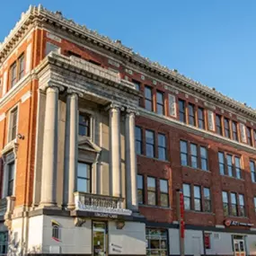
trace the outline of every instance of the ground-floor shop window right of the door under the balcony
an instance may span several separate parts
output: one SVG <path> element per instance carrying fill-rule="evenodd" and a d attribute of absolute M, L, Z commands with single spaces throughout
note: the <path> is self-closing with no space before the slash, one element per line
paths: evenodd
<path fill-rule="evenodd" d="M 167 230 L 146 228 L 146 255 L 168 255 Z"/>

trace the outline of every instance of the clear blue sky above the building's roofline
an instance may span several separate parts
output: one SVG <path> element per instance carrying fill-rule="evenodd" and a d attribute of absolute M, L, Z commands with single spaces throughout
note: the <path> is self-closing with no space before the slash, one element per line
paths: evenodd
<path fill-rule="evenodd" d="M 1 41 L 30 4 L 62 11 L 256 109 L 255 0 L 1 1 Z"/>

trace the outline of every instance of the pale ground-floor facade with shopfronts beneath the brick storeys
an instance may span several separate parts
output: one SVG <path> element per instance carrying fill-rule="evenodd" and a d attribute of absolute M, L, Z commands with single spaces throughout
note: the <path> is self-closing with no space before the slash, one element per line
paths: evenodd
<path fill-rule="evenodd" d="M 8 231 L 11 227 L 12 232 Z M 68 216 L 36 211 L 0 225 L 0 253 L 107 255 L 181 255 L 177 224 L 149 223 L 93 213 Z M 225 226 L 187 225 L 185 255 L 256 255 L 256 231 Z"/>

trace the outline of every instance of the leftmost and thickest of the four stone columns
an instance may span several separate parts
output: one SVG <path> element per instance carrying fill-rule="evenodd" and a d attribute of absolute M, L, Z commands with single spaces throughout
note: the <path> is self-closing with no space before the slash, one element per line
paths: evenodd
<path fill-rule="evenodd" d="M 40 207 L 57 205 L 58 90 L 56 86 L 46 89 Z"/>

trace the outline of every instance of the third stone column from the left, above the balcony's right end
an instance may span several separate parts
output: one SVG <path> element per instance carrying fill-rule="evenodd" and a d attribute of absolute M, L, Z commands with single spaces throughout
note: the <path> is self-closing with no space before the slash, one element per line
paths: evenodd
<path fill-rule="evenodd" d="M 110 181 L 111 195 L 121 197 L 120 180 L 120 109 L 110 105 Z"/>

